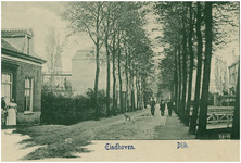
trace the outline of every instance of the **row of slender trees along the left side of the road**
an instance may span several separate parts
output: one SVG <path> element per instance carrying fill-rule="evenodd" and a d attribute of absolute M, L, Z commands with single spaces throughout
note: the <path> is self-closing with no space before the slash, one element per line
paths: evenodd
<path fill-rule="evenodd" d="M 96 118 L 99 118 L 97 92 L 101 61 L 106 63 L 107 116 L 116 115 L 117 82 L 120 113 L 126 109 L 134 111 L 142 108 L 142 103 L 147 103 L 147 95 L 150 92 L 147 79 L 153 71 L 153 51 L 143 29 L 145 23 L 143 3 L 96 1 L 64 2 L 63 4 L 62 17 L 68 22 L 73 34 L 87 33 L 96 47 Z M 110 95 L 111 77 L 113 80 L 112 98 Z M 126 101 L 124 101 L 124 90 Z"/>

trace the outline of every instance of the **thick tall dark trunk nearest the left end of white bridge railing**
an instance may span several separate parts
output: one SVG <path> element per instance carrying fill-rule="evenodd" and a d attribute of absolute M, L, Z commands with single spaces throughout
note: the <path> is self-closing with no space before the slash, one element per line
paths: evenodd
<path fill-rule="evenodd" d="M 212 60 L 212 2 L 205 2 L 205 60 L 203 72 L 203 87 L 200 102 L 199 129 L 196 134 L 198 139 L 204 139 L 206 134 L 206 115 L 208 106 L 208 90 L 210 90 L 210 73 Z"/>

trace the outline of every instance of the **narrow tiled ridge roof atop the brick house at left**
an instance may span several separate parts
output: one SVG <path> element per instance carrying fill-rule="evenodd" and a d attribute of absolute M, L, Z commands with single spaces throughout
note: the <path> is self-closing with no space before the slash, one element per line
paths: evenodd
<path fill-rule="evenodd" d="M 25 35 L 34 36 L 33 29 L 20 29 L 20 28 L 12 28 L 12 29 L 2 29 L 1 30 L 1 37 L 8 38 L 8 37 L 23 37 Z"/>

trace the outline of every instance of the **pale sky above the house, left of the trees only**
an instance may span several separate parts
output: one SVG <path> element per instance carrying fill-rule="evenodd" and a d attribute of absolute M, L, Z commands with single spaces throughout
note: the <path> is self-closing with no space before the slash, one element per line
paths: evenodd
<path fill-rule="evenodd" d="M 66 23 L 59 16 L 61 9 L 61 2 L 2 2 L 1 25 L 2 28 L 33 28 L 35 53 L 46 59 L 45 40 L 49 27 L 55 28 L 61 43 L 67 33 Z M 75 52 L 92 46 L 87 36 L 83 36 L 81 39 L 77 37 L 72 37 L 62 52 L 63 70 L 66 72 L 72 70 L 71 59 Z M 43 65 L 42 70 L 47 71 L 47 65 Z"/>

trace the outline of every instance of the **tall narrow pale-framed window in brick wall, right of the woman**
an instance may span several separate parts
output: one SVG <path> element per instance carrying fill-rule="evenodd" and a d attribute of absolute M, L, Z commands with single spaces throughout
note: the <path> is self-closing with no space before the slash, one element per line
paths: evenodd
<path fill-rule="evenodd" d="M 34 79 L 25 78 L 25 102 L 24 102 L 25 111 L 33 111 L 33 89 L 34 89 Z"/>

